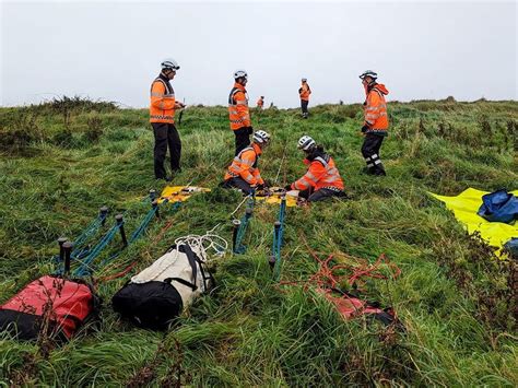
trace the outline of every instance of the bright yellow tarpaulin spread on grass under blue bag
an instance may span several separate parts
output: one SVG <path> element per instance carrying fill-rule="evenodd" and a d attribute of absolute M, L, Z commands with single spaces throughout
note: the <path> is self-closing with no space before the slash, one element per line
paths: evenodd
<path fill-rule="evenodd" d="M 518 190 L 510 191 L 518 197 Z M 457 197 L 439 196 L 431 192 L 438 200 L 446 203 L 446 208 L 451 210 L 455 217 L 459 220 L 468 230 L 469 234 L 480 232 L 480 236 L 492 247 L 501 248 L 496 251 L 502 256 L 502 247 L 511 237 L 518 237 L 518 222 L 514 225 L 502 222 L 490 222 L 476 214 L 482 204 L 482 196 L 488 191 L 481 191 L 473 188 L 466 189 Z"/>

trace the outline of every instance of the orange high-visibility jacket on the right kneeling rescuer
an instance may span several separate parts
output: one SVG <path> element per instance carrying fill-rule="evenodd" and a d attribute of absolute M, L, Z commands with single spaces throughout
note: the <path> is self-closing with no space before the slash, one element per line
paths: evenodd
<path fill-rule="evenodd" d="M 309 187 L 315 191 L 326 187 L 343 190 L 342 178 L 331 156 L 321 154 L 313 161 L 305 158 L 304 164 L 309 165 L 309 168 L 301 179 L 292 184 L 292 190 L 306 190 Z"/>

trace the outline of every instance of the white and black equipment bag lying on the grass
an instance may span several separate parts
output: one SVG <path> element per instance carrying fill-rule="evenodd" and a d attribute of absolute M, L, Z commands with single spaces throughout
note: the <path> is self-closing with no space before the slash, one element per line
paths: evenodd
<path fill-rule="evenodd" d="M 175 244 L 114 295 L 114 309 L 138 326 L 166 329 L 195 297 L 213 285 L 200 256 L 197 247 Z"/>

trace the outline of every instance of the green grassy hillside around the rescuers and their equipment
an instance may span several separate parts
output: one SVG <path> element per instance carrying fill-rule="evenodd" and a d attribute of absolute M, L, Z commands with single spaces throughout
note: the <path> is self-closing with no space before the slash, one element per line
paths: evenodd
<path fill-rule="evenodd" d="M 349 193 L 346 200 L 289 209 L 282 279 L 303 280 L 316 271 L 304 239 L 321 256 L 337 254 L 337 260 L 346 254 L 374 262 L 385 252 L 402 273 L 395 281 L 369 281 L 367 296 L 393 306 L 405 333 L 363 318 L 345 322 L 314 292 L 276 286 L 268 256 L 278 208 L 257 204 L 248 251 L 220 262 L 217 289 L 177 328 L 161 333 L 121 321 L 109 301 L 130 275 L 99 282 L 105 303 L 98 328 L 87 327 L 56 348 L 1 334 L 0 381 L 517 386 L 510 264 L 469 238 L 427 191 L 518 188 L 518 103 L 389 104 L 385 178 L 361 174 L 360 105 L 318 106 L 310 114 L 308 120 L 292 109 L 252 116 L 255 128 L 273 138 L 260 162 L 266 178 L 275 178 L 284 150 L 280 183 L 301 176 L 296 141 L 310 134 L 334 157 Z M 179 132 L 184 171 L 175 183 L 215 187 L 233 154 L 226 109 L 190 107 Z M 0 303 L 52 271 L 56 239 L 76 236 L 101 205 L 126 210 L 132 231 L 149 209 L 142 198 L 163 187 L 153 178 L 152 148 L 146 110 L 79 99 L 0 109 Z M 177 213 L 163 212 L 162 221 L 96 275 L 116 273 L 136 259 L 136 271 L 143 269 L 175 238 L 217 224 L 217 233 L 231 239 L 229 214 L 239 201 L 215 189 Z"/>

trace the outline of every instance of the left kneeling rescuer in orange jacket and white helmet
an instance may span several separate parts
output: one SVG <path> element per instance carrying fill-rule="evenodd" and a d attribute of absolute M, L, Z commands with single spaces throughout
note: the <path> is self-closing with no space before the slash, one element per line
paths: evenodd
<path fill-rule="evenodd" d="M 225 188 L 236 187 L 249 195 L 256 188 L 262 190 L 264 180 L 259 172 L 258 163 L 262 150 L 270 143 L 270 134 L 259 130 L 254 133 L 252 143 L 239 151 L 225 174 L 224 181 L 220 185 Z"/>

